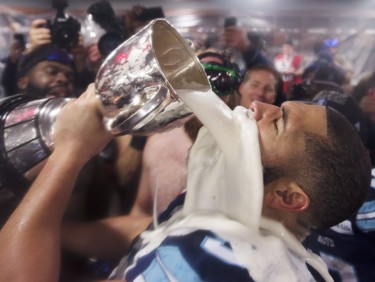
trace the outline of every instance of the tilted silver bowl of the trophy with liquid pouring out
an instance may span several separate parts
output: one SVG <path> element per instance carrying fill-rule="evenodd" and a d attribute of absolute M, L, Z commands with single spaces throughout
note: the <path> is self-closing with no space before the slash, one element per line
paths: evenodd
<path fill-rule="evenodd" d="M 176 91 L 210 89 L 194 51 L 164 19 L 114 50 L 95 85 L 104 123 L 114 135 L 147 135 L 181 125 L 192 113 Z"/>

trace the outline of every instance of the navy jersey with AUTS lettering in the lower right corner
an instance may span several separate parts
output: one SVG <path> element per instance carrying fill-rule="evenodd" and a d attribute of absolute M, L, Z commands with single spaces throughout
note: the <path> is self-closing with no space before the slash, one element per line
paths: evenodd
<path fill-rule="evenodd" d="M 336 282 L 375 281 L 375 169 L 360 209 L 339 225 L 312 234 L 304 244 L 321 256 Z"/>

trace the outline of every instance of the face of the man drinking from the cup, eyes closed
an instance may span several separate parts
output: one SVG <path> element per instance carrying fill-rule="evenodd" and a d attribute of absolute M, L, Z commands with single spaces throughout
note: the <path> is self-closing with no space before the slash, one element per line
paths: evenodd
<path fill-rule="evenodd" d="M 285 102 L 281 107 L 254 102 L 264 166 L 281 164 L 305 148 L 305 133 L 327 136 L 326 110 L 319 105 Z"/>

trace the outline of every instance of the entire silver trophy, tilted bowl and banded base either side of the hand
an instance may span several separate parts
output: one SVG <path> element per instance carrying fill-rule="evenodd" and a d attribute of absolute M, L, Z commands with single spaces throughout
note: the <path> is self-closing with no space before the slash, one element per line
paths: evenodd
<path fill-rule="evenodd" d="M 194 51 L 164 19 L 156 19 L 117 47 L 95 80 L 98 109 L 113 135 L 148 135 L 192 117 L 176 90 L 210 89 Z M 0 100 L 0 195 L 22 195 L 53 150 L 53 127 L 68 99 Z M 13 187 L 22 187 L 14 189 Z M 2 189 L 1 189 L 2 188 Z"/>

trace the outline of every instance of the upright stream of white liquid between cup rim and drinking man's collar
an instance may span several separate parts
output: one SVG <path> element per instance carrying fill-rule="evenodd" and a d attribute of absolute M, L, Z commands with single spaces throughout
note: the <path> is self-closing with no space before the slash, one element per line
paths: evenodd
<path fill-rule="evenodd" d="M 230 110 L 213 92 L 178 95 L 205 125 L 189 154 L 184 214 L 221 212 L 258 230 L 263 174 L 252 112 Z"/>

